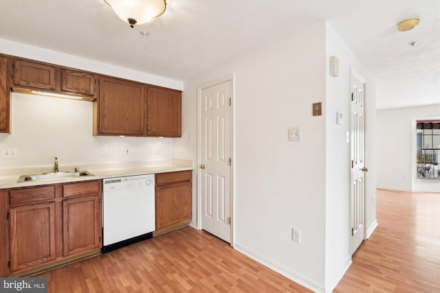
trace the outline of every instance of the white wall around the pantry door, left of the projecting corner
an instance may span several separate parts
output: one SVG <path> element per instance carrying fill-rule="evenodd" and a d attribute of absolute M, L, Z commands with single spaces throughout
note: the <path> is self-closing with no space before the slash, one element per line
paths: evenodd
<path fill-rule="evenodd" d="M 288 39 L 186 81 L 177 156 L 197 161 L 197 142 L 187 139 L 197 133 L 197 86 L 232 74 L 234 248 L 322 292 L 325 116 L 312 117 L 311 104 L 325 102 L 325 23 L 302 27 Z M 295 126 L 302 141 L 289 142 L 287 128 Z M 193 215 L 196 211 L 194 204 Z M 301 244 L 292 242 L 292 227 L 302 231 Z"/>

